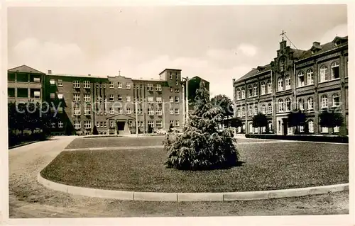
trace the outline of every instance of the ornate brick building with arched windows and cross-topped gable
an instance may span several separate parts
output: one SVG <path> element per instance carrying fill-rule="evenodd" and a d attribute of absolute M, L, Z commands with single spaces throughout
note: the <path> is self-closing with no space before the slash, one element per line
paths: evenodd
<path fill-rule="evenodd" d="M 347 133 L 348 120 L 348 38 L 335 37 L 321 45 L 314 42 L 310 50 L 296 50 L 280 42 L 277 56 L 270 64 L 258 66 L 240 79 L 233 79 L 235 116 L 242 120 L 239 132 L 257 133 L 253 115 L 261 112 L 268 118 L 268 130 L 279 135 L 293 134 L 288 114 L 305 113 L 300 132 L 328 133 L 319 125 L 324 109 L 342 113 L 344 122 L 334 133 Z M 266 128 L 263 128 L 263 132 Z"/>

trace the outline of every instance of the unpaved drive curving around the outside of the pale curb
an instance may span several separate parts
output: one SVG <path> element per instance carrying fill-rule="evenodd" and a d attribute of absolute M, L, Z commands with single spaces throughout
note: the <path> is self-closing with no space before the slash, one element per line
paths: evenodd
<path fill-rule="evenodd" d="M 44 188 L 38 171 L 52 161 L 75 137 L 9 150 L 10 217 L 143 217 L 347 214 L 349 193 L 235 202 L 156 203 L 72 196 Z"/>

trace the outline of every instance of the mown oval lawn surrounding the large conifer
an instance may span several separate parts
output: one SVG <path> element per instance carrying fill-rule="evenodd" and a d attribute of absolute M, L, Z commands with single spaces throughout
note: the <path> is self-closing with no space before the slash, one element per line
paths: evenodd
<path fill-rule="evenodd" d="M 146 146 L 144 142 L 131 146 L 137 145 Z M 68 147 L 75 147 L 75 142 Z M 166 153 L 162 148 L 127 147 L 127 150 L 64 151 L 41 174 L 72 186 L 159 192 L 265 191 L 349 182 L 348 145 L 280 142 L 251 143 L 238 148 L 244 163 L 232 169 L 167 169 L 163 165 Z"/>

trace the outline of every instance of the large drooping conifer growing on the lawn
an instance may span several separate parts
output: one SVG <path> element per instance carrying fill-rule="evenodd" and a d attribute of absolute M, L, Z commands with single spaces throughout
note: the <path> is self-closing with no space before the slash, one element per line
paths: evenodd
<path fill-rule="evenodd" d="M 196 91 L 195 108 L 187 120 L 182 134 L 164 142 L 168 152 L 165 165 L 183 170 L 226 169 L 235 166 L 239 159 L 236 141 L 231 128 L 219 132 L 219 119 L 223 110 L 213 106 L 209 94 L 200 84 Z"/>

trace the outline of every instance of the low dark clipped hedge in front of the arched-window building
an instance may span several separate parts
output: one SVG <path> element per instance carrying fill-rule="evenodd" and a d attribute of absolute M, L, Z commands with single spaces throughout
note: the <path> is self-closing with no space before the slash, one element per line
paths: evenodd
<path fill-rule="evenodd" d="M 349 143 L 347 136 L 326 136 L 326 135 L 266 135 L 266 134 L 246 134 L 246 138 L 256 139 L 273 139 L 273 140 L 300 140 L 313 142 L 333 142 L 333 143 Z"/>

